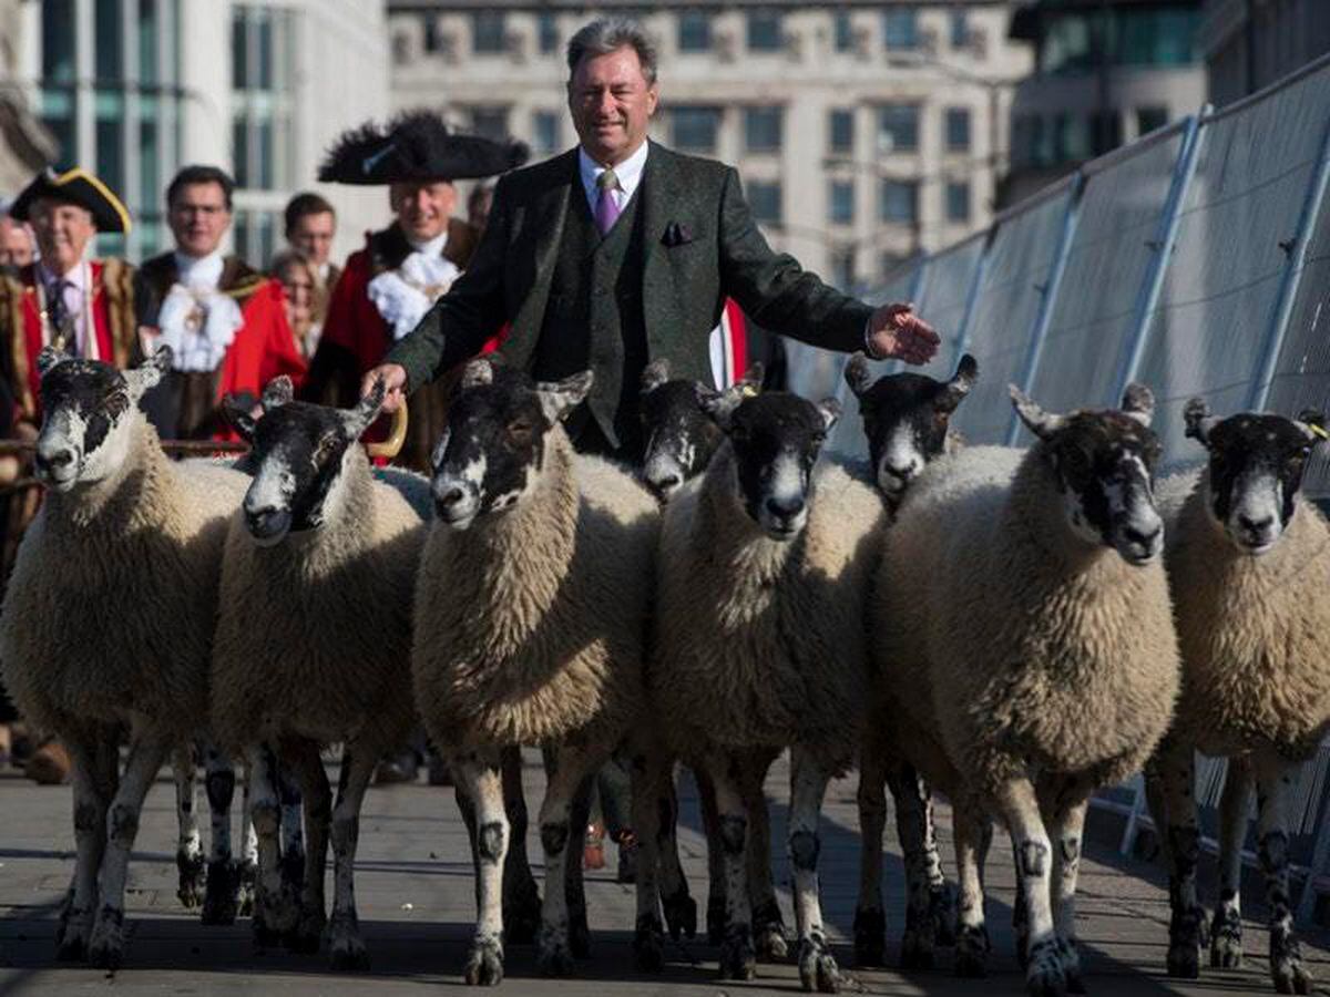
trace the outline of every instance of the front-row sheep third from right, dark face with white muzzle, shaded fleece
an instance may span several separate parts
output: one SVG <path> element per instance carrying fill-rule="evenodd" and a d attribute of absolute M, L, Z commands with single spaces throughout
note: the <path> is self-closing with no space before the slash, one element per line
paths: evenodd
<path fill-rule="evenodd" d="M 665 506 L 653 711 L 676 755 L 716 786 L 726 873 L 722 978 L 751 978 L 745 754 L 791 750 L 789 849 L 799 978 L 839 989 L 818 900 L 818 815 L 855 754 L 867 693 L 864 592 L 886 518 L 843 467 L 813 473 L 834 399 L 742 387 L 704 397 L 726 433 L 706 472 Z"/>

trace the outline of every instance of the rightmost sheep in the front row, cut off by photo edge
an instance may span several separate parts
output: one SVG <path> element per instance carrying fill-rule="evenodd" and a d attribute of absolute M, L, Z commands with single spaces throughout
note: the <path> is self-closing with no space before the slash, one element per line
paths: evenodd
<path fill-rule="evenodd" d="M 1297 767 L 1330 726 L 1330 525 L 1298 500 L 1325 416 L 1246 412 L 1217 419 L 1204 399 L 1185 409 L 1186 435 L 1209 468 L 1161 485 L 1165 561 L 1182 655 L 1173 728 L 1148 768 L 1169 860 L 1168 972 L 1200 974 L 1200 832 L 1194 751 L 1230 759 L 1220 807 L 1220 903 L 1210 962 L 1242 964 L 1241 849 L 1253 783 L 1258 856 L 1270 907 L 1270 976 L 1279 993 L 1310 993 L 1289 903 L 1289 794 Z M 1156 804 L 1157 807 L 1157 804 Z"/>

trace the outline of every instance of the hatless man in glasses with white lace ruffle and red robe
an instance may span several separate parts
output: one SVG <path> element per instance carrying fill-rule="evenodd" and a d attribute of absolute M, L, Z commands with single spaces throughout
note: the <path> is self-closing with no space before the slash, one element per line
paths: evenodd
<path fill-rule="evenodd" d="M 305 376 L 281 284 L 221 253 L 234 186 L 215 166 L 177 173 L 166 189 L 176 250 L 149 259 L 138 275 L 142 324 L 154 347 L 172 348 L 173 370 L 144 397 L 168 439 L 234 439 L 223 395 L 257 403 L 273 378 Z"/>

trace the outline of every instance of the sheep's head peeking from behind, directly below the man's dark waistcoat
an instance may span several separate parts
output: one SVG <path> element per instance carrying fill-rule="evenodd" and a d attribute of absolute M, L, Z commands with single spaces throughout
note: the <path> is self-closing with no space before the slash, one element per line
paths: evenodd
<path fill-rule="evenodd" d="M 750 367 L 739 383 L 759 391 L 762 364 Z M 670 380 L 668 360 L 654 360 L 642 371 L 642 481 L 662 502 L 700 473 L 721 445 L 722 433 L 701 403 L 702 396 L 714 393 L 709 386 L 685 378 Z"/>

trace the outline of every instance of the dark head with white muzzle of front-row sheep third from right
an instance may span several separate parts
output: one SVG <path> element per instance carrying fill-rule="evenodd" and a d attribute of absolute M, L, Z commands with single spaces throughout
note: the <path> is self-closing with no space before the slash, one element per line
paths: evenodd
<path fill-rule="evenodd" d="M 809 489 L 827 431 L 841 403 L 817 404 L 773 391 L 753 395 L 735 384 L 702 396 L 702 408 L 734 448 L 735 497 L 773 540 L 793 540 L 809 520 Z"/>

